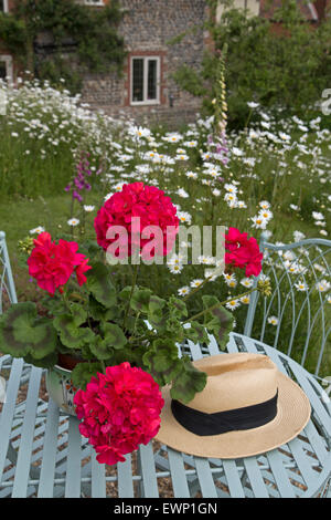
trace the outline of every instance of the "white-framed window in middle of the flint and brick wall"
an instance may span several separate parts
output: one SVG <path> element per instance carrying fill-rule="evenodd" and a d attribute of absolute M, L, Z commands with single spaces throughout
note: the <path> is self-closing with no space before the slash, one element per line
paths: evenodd
<path fill-rule="evenodd" d="M 131 104 L 160 102 L 160 58 L 131 58 Z"/>

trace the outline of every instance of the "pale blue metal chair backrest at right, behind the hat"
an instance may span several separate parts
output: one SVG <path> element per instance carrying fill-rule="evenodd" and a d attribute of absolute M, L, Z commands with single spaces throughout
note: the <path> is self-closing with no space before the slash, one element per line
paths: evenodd
<path fill-rule="evenodd" d="M 273 293 L 250 298 L 244 333 L 290 355 L 316 376 L 331 375 L 331 241 L 269 243 L 263 272 Z M 255 281 L 255 284 L 257 281 Z"/>

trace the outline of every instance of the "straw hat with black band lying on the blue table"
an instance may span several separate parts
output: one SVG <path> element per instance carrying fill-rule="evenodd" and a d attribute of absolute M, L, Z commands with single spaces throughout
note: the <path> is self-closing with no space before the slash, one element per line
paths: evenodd
<path fill-rule="evenodd" d="M 241 458 L 277 448 L 296 437 L 310 418 L 302 389 L 264 354 L 204 357 L 193 365 L 207 374 L 205 388 L 189 403 L 164 406 L 157 439 L 200 457 Z"/>

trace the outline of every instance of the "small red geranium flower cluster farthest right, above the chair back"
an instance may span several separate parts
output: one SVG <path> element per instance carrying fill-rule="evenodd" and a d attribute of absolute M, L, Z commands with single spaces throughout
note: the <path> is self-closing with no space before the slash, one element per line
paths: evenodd
<path fill-rule="evenodd" d="M 236 228 L 229 228 L 225 235 L 225 264 L 245 269 L 246 277 L 257 277 L 261 271 L 263 253 L 255 238 L 247 239 Z"/>

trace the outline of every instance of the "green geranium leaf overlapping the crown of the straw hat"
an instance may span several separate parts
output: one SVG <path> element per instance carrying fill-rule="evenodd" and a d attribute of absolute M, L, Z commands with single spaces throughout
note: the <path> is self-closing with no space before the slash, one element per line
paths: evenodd
<path fill-rule="evenodd" d="M 189 403 L 206 385 L 206 374 L 196 370 L 189 356 L 180 360 L 180 371 L 172 381 L 170 395 L 173 399 Z"/>

